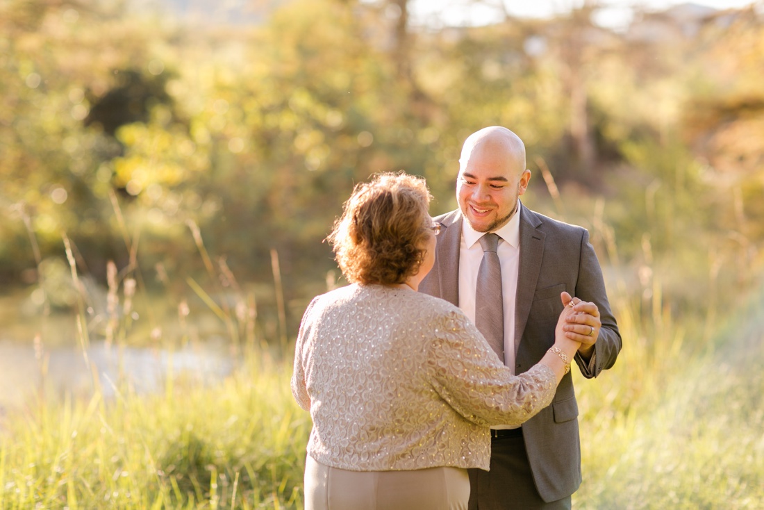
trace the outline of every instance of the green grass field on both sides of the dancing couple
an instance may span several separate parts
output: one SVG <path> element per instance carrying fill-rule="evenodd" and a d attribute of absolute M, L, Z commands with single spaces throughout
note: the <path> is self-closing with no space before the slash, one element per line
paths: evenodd
<path fill-rule="evenodd" d="M 577 376 L 575 508 L 764 508 L 764 320 L 749 302 L 705 342 L 668 312 L 636 320 L 616 304 L 617 365 Z M 290 352 L 241 356 L 221 382 L 168 369 L 154 395 L 117 382 L 114 398 L 94 385 L 5 414 L 0 508 L 302 508 L 310 421 Z"/>

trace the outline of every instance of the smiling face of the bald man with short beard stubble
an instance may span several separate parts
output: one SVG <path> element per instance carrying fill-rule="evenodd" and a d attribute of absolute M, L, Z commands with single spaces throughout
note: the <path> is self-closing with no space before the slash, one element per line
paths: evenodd
<path fill-rule="evenodd" d="M 456 198 L 461 214 L 477 232 L 493 232 L 515 213 L 530 171 L 505 151 L 475 148 L 461 161 Z"/>

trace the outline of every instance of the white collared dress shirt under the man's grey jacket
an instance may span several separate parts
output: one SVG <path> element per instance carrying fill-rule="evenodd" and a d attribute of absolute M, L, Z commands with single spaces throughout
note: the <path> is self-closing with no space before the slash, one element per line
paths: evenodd
<path fill-rule="evenodd" d="M 478 287 L 478 268 L 483 260 L 480 238 L 486 232 L 476 232 L 466 219 L 461 220 L 461 246 L 459 249 L 459 308 L 471 321 L 475 320 L 475 293 Z M 500 229 L 499 263 L 501 265 L 501 293 L 504 310 L 504 365 L 515 373 L 515 298 L 517 273 L 520 267 L 520 203 L 517 213 Z"/>

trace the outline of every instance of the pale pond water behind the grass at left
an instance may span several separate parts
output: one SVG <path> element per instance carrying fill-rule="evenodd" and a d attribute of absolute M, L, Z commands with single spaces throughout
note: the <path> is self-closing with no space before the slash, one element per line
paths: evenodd
<path fill-rule="evenodd" d="M 102 336 L 92 334 L 83 349 L 73 313 L 43 316 L 29 310 L 29 301 L 28 293 L 0 296 L 0 411 L 23 407 L 40 391 L 46 398 L 87 397 L 94 381 L 107 397 L 124 382 L 137 392 L 160 391 L 168 374 L 191 382 L 216 381 L 237 362 L 230 343 L 211 333 L 219 324 L 207 327 L 208 317 L 202 314 L 189 327 L 202 333 L 183 346 L 107 346 Z"/>

